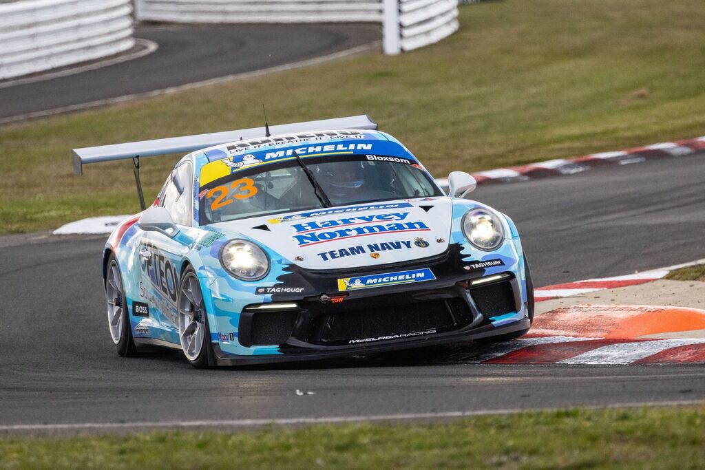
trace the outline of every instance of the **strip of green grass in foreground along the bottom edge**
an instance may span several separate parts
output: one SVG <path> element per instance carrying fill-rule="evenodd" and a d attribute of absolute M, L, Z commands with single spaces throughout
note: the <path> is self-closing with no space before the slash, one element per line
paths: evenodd
<path fill-rule="evenodd" d="M 436 424 L 0 440 L 3 469 L 696 469 L 705 407 L 571 410 Z"/>

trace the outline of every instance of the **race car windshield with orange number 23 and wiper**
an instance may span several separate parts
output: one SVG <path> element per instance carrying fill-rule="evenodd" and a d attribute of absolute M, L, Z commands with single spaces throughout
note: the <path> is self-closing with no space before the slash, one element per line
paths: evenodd
<path fill-rule="evenodd" d="M 200 224 L 360 202 L 442 196 L 423 168 L 407 159 L 345 155 L 295 159 L 235 171 L 201 187 Z"/>

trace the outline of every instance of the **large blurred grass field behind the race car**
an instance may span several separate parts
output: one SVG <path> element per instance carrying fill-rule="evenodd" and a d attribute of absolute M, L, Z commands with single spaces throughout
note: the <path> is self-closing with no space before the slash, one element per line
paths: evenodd
<path fill-rule="evenodd" d="M 460 31 L 348 58 L 0 128 L 0 233 L 135 211 L 130 163 L 97 144 L 369 113 L 436 175 L 705 134 L 705 2 L 532 0 L 460 8 Z M 10 89 L 4 92 L 11 92 Z M 176 156 L 143 163 L 154 195 Z"/>

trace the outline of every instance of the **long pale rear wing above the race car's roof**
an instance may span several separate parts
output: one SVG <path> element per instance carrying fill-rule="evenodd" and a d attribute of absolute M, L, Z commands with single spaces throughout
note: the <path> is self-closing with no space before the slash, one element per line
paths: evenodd
<path fill-rule="evenodd" d="M 360 116 L 350 116 L 348 118 L 309 120 L 304 123 L 269 126 L 271 135 L 346 129 L 376 130 L 377 123 L 369 116 L 363 114 Z M 235 142 L 240 139 L 247 140 L 256 137 L 265 137 L 266 133 L 268 133 L 267 129 L 262 127 L 73 149 L 73 172 L 77 175 L 82 175 L 83 166 L 87 163 L 128 160 L 143 156 L 188 154 L 195 150 Z"/>

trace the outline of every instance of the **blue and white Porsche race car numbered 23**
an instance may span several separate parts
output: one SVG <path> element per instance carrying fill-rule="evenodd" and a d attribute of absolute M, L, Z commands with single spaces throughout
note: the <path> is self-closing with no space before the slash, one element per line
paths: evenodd
<path fill-rule="evenodd" d="M 513 221 L 446 194 L 369 116 L 75 149 L 75 171 L 132 159 L 142 211 L 103 253 L 118 354 L 197 368 L 359 356 L 529 330 Z M 140 158 L 189 152 L 145 209 Z"/>

